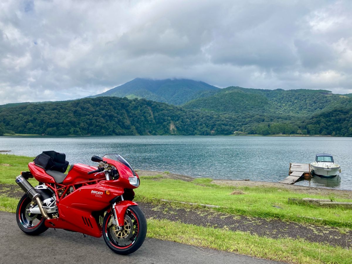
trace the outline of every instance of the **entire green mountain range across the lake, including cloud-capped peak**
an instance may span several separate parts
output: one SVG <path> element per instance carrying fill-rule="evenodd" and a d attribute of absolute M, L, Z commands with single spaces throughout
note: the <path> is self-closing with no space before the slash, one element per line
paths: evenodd
<path fill-rule="evenodd" d="M 115 97 L 115 92 L 183 105 Z M 219 89 L 184 79 L 134 79 L 102 95 L 109 96 L 0 106 L 0 135 L 352 136 L 352 98 L 328 90 Z"/>

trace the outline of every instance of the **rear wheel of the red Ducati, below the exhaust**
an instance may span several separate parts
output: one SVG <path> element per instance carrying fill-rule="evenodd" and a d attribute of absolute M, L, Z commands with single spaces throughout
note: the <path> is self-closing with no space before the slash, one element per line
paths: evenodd
<path fill-rule="evenodd" d="M 16 221 L 17 225 L 28 235 L 39 235 L 46 231 L 44 218 L 41 214 L 26 213 L 26 209 L 31 205 L 36 205 L 26 194 L 22 196 L 17 205 Z"/>

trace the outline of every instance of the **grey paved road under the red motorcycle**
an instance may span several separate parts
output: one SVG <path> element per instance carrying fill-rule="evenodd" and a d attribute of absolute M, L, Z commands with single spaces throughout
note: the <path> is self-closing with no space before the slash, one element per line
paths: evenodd
<path fill-rule="evenodd" d="M 248 256 L 200 249 L 170 241 L 147 238 L 133 254 L 121 256 L 102 238 L 49 228 L 32 237 L 17 226 L 15 214 L 0 212 L 0 263 L 276 263 Z"/>

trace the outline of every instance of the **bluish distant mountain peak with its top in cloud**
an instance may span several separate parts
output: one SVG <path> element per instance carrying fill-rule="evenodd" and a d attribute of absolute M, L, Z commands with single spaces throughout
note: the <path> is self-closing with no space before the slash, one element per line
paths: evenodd
<path fill-rule="evenodd" d="M 202 93 L 204 92 L 211 93 L 216 90 L 219 90 L 219 88 L 205 82 L 187 79 L 151 80 L 136 78 L 105 93 L 89 96 L 89 98 L 99 96 L 117 96 L 129 99 L 145 98 L 172 105 L 182 105 L 189 100 L 203 96 Z"/>

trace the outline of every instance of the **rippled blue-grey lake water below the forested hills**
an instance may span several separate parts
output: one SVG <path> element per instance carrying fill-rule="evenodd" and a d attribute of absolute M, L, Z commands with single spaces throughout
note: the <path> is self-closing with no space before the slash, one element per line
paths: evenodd
<path fill-rule="evenodd" d="M 352 189 L 352 138 L 332 137 L 0 137 L 0 150 L 36 156 L 43 150 L 66 154 L 70 163 L 92 155 L 120 153 L 135 169 L 170 171 L 193 177 L 278 182 L 289 163 L 310 163 L 330 153 L 342 172 L 296 184 Z"/>

